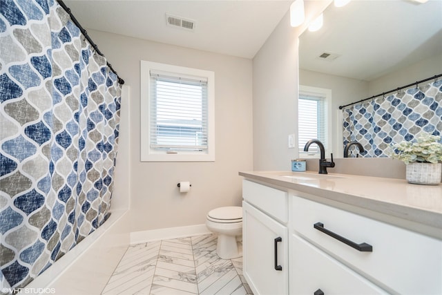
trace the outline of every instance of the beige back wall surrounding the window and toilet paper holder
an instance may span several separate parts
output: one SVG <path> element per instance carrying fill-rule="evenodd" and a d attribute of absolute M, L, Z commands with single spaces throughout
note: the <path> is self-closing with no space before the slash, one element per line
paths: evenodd
<path fill-rule="evenodd" d="M 129 149 L 118 155 L 130 159 L 129 231 L 199 225 L 215 207 L 240 205 L 238 171 L 253 169 L 251 59 L 93 30 L 88 34 L 130 86 Z M 215 162 L 140 162 L 140 60 L 215 72 Z M 180 181 L 191 182 L 189 193 L 179 193 Z"/>

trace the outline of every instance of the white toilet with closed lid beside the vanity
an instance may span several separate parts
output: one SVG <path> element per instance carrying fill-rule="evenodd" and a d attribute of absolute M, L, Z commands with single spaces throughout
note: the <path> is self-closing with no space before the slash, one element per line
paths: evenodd
<path fill-rule="evenodd" d="M 222 259 L 242 256 L 236 236 L 242 234 L 242 207 L 220 207 L 207 213 L 206 227 L 218 234 L 216 254 Z"/>

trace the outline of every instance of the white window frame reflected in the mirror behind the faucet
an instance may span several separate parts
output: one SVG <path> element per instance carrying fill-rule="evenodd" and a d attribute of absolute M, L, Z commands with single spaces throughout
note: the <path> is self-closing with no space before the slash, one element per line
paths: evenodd
<path fill-rule="evenodd" d="M 323 142 L 325 146 L 325 154 L 332 153 L 333 150 L 333 139 L 332 139 L 332 90 L 327 88 L 319 88 L 314 86 L 299 86 L 298 91 L 298 102 L 302 95 L 307 96 L 317 96 L 324 97 L 324 111 L 325 117 L 323 118 L 323 122 L 325 122 L 325 140 Z M 298 103 L 297 102 L 297 103 Z M 299 107 L 298 107 L 299 112 Z M 299 116 L 299 115 L 298 115 Z M 313 139 L 313 138 L 311 138 Z M 308 151 L 305 152 L 303 149 L 299 149 L 299 124 L 298 124 L 298 154 L 300 158 L 319 158 L 319 151 Z"/>

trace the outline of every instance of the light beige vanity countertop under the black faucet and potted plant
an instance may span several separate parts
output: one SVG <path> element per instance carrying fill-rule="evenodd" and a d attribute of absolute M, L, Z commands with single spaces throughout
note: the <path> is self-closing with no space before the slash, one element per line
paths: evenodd
<path fill-rule="evenodd" d="M 320 175 L 313 171 L 250 171 L 239 175 L 419 222 L 442 233 L 442 184 L 410 184 L 407 180 L 337 173 Z"/>

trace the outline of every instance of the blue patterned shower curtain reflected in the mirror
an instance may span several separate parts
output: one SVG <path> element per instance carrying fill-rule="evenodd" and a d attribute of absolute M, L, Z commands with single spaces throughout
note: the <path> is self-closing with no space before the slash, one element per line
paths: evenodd
<path fill-rule="evenodd" d="M 357 141 L 367 158 L 388 157 L 390 145 L 419 133 L 441 135 L 442 81 L 343 109 L 343 140 Z"/>

